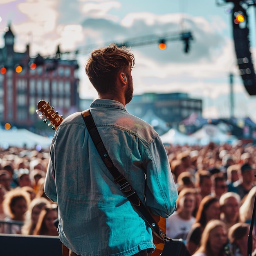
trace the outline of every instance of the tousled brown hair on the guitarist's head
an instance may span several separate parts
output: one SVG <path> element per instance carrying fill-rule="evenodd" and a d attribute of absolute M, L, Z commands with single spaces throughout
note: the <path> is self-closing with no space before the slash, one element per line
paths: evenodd
<path fill-rule="evenodd" d="M 117 74 L 127 73 L 135 64 L 135 58 L 127 47 L 110 44 L 94 50 L 85 65 L 85 72 L 99 94 L 115 89 Z"/>

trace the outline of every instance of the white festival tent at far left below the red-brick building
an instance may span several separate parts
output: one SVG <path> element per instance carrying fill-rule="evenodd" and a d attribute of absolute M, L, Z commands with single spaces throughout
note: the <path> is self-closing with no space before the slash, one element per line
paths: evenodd
<path fill-rule="evenodd" d="M 49 148 L 52 138 L 44 137 L 26 129 L 11 128 L 5 130 L 0 128 L 0 147 L 8 148 L 9 146 L 23 148 Z"/>

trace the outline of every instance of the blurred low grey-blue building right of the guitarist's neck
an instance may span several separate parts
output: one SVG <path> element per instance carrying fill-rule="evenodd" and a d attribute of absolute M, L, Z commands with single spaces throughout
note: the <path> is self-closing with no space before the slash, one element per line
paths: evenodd
<path fill-rule="evenodd" d="M 144 119 L 147 112 L 153 112 L 166 122 L 166 126 L 178 124 L 192 113 L 202 116 L 202 100 L 191 99 L 186 93 L 134 95 L 126 107 L 132 115 L 141 119 Z"/>

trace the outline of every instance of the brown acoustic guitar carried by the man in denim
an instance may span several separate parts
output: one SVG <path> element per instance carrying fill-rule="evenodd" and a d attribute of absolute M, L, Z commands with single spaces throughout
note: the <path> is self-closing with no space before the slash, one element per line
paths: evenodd
<path fill-rule="evenodd" d="M 46 102 L 45 100 L 40 100 L 37 104 L 38 109 L 36 110 L 36 113 L 39 115 L 43 121 L 48 124 L 48 126 L 52 126 L 53 130 L 57 130 L 58 126 L 63 121 L 63 116 L 59 115 L 58 112 L 54 110 L 54 107 L 50 105 L 49 102 Z M 41 113 L 41 114 L 40 114 Z M 152 214 L 152 217 L 154 218 L 155 222 L 159 226 L 160 229 L 165 233 L 166 232 L 166 218 L 157 216 Z M 164 240 L 160 239 L 155 235 L 153 232 L 153 243 L 156 247 L 155 251 L 152 256 L 159 256 L 162 253 L 162 250 L 164 249 Z M 69 250 L 65 245 L 62 247 L 62 253 L 63 256 L 69 256 Z"/>

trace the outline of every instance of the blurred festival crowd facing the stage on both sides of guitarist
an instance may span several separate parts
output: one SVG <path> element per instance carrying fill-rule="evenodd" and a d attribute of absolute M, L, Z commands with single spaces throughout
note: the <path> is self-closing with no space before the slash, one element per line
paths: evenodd
<path fill-rule="evenodd" d="M 252 144 L 165 145 L 179 197 L 166 235 L 194 256 L 247 256 L 256 194 Z M 49 150 L 0 150 L 0 233 L 57 236 L 57 205 L 43 186 Z M 256 249 L 256 220 L 252 249 Z"/>

